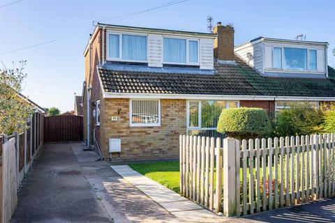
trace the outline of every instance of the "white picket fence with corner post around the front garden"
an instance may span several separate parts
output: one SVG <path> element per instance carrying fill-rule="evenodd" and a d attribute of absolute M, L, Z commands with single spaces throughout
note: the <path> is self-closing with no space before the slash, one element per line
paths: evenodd
<path fill-rule="evenodd" d="M 181 194 L 216 213 L 248 215 L 335 196 L 334 134 L 226 138 L 222 148 L 219 138 L 179 140 Z"/>

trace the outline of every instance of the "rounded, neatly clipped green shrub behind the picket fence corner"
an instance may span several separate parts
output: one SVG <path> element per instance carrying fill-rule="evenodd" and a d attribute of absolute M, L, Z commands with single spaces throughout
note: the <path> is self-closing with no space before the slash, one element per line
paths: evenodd
<path fill-rule="evenodd" d="M 269 116 L 260 108 L 223 109 L 218 119 L 217 131 L 235 139 L 252 139 L 271 130 Z"/>

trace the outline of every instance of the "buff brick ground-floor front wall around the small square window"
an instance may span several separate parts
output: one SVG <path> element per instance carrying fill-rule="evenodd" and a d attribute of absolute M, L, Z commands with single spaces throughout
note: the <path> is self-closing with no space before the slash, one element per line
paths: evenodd
<path fill-rule="evenodd" d="M 117 121 L 111 116 L 117 116 Z M 130 127 L 129 99 L 101 100 L 101 149 L 105 157 L 109 157 L 110 138 L 121 138 L 121 155 L 113 154 L 113 160 L 178 157 L 179 134 L 186 134 L 186 100 L 162 99 L 159 127 Z"/>

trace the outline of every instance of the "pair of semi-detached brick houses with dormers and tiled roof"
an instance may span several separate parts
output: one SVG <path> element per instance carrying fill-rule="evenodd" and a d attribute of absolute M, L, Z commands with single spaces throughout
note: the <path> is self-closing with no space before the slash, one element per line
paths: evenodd
<path fill-rule="evenodd" d="M 179 134 L 221 136 L 229 107 L 335 101 L 328 43 L 97 24 L 84 50 L 84 139 L 113 160 L 178 157 Z M 111 140 L 112 139 L 112 140 Z M 119 141 L 117 141 L 119 139 Z"/>

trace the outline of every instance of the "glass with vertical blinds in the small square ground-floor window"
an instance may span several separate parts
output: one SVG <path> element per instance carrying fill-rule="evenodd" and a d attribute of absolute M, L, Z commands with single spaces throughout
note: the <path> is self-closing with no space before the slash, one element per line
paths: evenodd
<path fill-rule="evenodd" d="M 158 100 L 133 100 L 132 123 L 159 123 Z"/>

